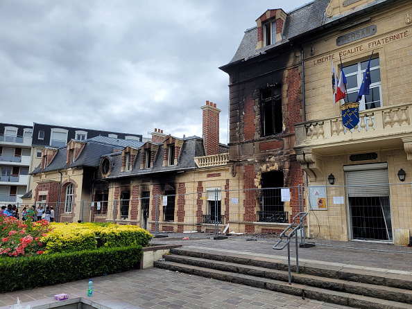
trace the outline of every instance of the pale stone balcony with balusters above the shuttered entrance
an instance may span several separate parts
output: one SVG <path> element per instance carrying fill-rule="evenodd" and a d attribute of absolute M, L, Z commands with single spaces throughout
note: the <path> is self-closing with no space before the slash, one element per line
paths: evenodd
<path fill-rule="evenodd" d="M 318 154 L 336 154 L 381 148 L 381 145 L 403 148 L 404 141 L 412 137 L 411 118 L 412 103 L 401 103 L 359 112 L 359 124 L 352 130 L 343 127 L 341 115 L 298 123 L 295 150 L 299 156 L 312 150 Z"/>

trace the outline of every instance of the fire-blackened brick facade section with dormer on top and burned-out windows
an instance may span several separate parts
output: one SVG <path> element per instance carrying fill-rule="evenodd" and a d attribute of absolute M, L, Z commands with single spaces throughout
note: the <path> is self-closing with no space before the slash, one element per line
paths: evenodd
<path fill-rule="evenodd" d="M 293 13 L 267 10 L 246 30 L 229 74 L 230 163 L 246 191 L 246 232 L 280 231 L 299 211 L 296 188 L 303 172 L 293 150 L 295 123 L 304 120 L 301 49 L 289 44 Z M 281 188 L 291 188 L 282 201 Z M 268 189 L 271 188 L 271 189 Z M 268 226 L 267 223 L 271 222 Z"/>

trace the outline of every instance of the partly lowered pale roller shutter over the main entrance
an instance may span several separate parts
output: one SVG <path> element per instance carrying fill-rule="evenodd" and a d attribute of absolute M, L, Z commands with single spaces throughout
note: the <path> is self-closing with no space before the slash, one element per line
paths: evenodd
<path fill-rule="evenodd" d="M 389 196 L 388 183 L 386 168 L 346 171 L 349 197 Z"/>

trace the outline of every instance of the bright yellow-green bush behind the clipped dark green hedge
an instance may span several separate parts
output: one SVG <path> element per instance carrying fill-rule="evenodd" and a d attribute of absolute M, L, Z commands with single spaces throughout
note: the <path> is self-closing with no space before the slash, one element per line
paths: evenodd
<path fill-rule="evenodd" d="M 97 239 L 105 247 L 146 247 L 152 239 L 151 233 L 135 225 L 53 222 L 51 227 L 53 232 L 42 238 L 45 253 L 96 249 Z"/>

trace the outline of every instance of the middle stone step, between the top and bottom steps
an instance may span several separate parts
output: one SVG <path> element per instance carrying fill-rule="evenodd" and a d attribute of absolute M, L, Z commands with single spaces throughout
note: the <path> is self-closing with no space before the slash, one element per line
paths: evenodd
<path fill-rule="evenodd" d="M 179 256 L 174 254 L 165 255 L 163 257 L 166 261 L 175 263 L 205 267 L 208 269 L 221 270 L 224 272 L 247 274 L 250 276 L 274 279 L 277 281 L 289 281 L 287 270 L 275 270 L 265 267 L 242 265 L 225 261 L 213 261 L 205 258 L 194 258 L 191 256 Z M 359 294 L 390 301 L 412 304 L 411 290 L 392 288 L 384 285 L 359 283 L 354 281 L 345 281 L 342 279 L 332 279 L 323 276 L 295 273 L 291 273 L 291 282 L 327 290 L 334 290 L 337 292 L 347 292 L 350 294 Z"/>

